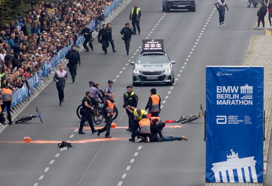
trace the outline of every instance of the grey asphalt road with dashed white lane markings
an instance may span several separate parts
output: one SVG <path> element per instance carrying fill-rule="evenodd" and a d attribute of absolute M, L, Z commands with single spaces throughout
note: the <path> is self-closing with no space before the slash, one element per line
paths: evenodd
<path fill-rule="evenodd" d="M 251 35 L 263 34 L 253 30 L 256 8 L 246 8 L 246 2 L 229 0 L 225 27 L 219 27 L 214 1 L 196 2 L 196 12 L 161 11 L 161 2 L 139 1 L 142 11 L 141 35 L 133 35 L 130 55 L 121 41 L 121 29 L 133 6 L 130 3 L 111 22 L 116 53 L 111 47 L 104 55 L 101 45 L 94 41 L 94 52 L 81 53 L 81 65 L 75 83 L 66 82 L 65 102 L 58 105 L 55 82 L 50 83 L 21 113 L 28 116 L 38 106 L 44 123 L 35 119 L 27 124 L 9 126 L 0 135 L 0 185 L 185 185 L 205 184 L 204 118 L 189 124 L 170 124 L 163 134 L 188 137 L 189 141 L 134 143 L 125 130 L 128 118 L 123 105 L 126 86 L 132 84 L 130 61 L 141 52 L 141 40 L 164 39 L 170 60 L 175 60 L 175 85 L 143 85 L 133 87 L 139 97 L 138 107 L 144 109 L 150 89 L 155 87 L 162 98 L 162 119 L 178 119 L 192 115 L 205 107 L 205 66 L 242 65 Z M 150 35 L 148 35 L 150 34 Z M 136 53 L 134 55 L 134 53 Z M 68 72 L 68 69 L 65 69 Z M 70 75 L 70 74 L 69 74 Z M 119 77 L 117 77 L 119 75 Z M 117 127 L 111 130 L 112 139 L 76 131 L 79 119 L 76 108 L 88 90 L 89 80 L 107 86 L 115 80 Z M 168 97 L 167 97 L 168 96 Z M 166 98 L 167 97 L 167 98 Z M 103 127 L 104 123 L 95 127 Z M 23 142 L 30 136 L 31 143 Z M 60 151 L 57 143 L 72 142 L 74 148 Z"/>

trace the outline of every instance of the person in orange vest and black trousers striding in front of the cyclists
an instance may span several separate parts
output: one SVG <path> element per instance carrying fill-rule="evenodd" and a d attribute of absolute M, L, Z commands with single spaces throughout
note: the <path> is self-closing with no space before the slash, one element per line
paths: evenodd
<path fill-rule="evenodd" d="M 102 107 L 102 110 L 104 112 L 104 117 L 105 117 L 105 123 L 106 125 L 102 129 L 97 130 L 97 135 L 99 136 L 101 132 L 106 131 L 105 138 L 111 138 L 110 136 L 110 130 L 112 126 L 112 116 L 113 114 L 116 114 L 116 110 L 114 108 L 114 94 L 111 94 L 108 97 L 108 100 L 104 102 L 104 105 Z"/>

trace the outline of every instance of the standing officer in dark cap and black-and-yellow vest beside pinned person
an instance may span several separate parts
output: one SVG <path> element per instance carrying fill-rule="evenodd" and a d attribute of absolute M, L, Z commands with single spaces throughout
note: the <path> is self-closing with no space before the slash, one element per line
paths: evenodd
<path fill-rule="evenodd" d="M 134 92 L 132 92 L 132 86 L 127 86 L 127 92 L 124 93 L 123 98 L 124 98 L 124 105 L 123 105 L 124 108 L 126 108 L 126 106 L 134 107 L 134 108 L 137 107 L 138 96 Z M 128 114 L 128 129 L 126 130 L 131 132 L 133 122 L 134 122 L 134 116 L 127 109 L 126 109 L 126 112 Z"/>

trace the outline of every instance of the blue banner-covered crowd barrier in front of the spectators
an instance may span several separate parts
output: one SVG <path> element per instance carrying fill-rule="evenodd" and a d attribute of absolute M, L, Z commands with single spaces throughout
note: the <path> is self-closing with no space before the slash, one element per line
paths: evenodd
<path fill-rule="evenodd" d="M 105 17 L 107 17 L 116 6 L 118 6 L 122 0 L 114 0 L 111 5 L 107 6 L 104 12 Z M 90 24 L 88 24 L 88 28 L 91 30 L 95 30 L 96 28 L 96 20 L 93 19 Z M 78 33 L 79 34 L 79 33 Z M 79 36 L 76 41 L 76 46 L 81 44 L 81 42 L 84 40 L 84 36 Z M 41 79 L 44 76 L 49 75 L 52 72 L 53 67 L 60 63 L 61 59 L 65 57 L 65 55 L 68 53 L 68 51 L 71 49 L 73 45 L 73 40 L 70 39 L 69 44 L 58 51 L 57 55 L 52 57 L 49 60 L 44 60 L 43 70 L 38 71 L 34 74 L 33 77 L 27 77 L 26 82 L 24 83 L 24 86 L 21 89 L 17 89 L 13 91 L 12 93 L 12 103 L 11 108 L 13 108 L 18 103 L 21 103 L 24 98 L 30 95 L 30 92 L 32 92 L 37 86 L 40 86 Z"/>

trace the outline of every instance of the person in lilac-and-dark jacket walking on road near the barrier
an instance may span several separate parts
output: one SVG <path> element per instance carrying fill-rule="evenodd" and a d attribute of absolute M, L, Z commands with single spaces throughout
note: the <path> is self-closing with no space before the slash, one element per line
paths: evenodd
<path fill-rule="evenodd" d="M 64 102 L 63 90 L 65 86 L 65 81 L 67 80 L 67 72 L 63 69 L 64 69 L 63 65 L 60 65 L 60 70 L 58 70 L 53 77 L 53 80 L 56 81 L 56 86 L 59 93 L 60 105 L 62 102 Z"/>

